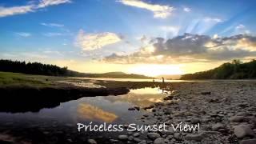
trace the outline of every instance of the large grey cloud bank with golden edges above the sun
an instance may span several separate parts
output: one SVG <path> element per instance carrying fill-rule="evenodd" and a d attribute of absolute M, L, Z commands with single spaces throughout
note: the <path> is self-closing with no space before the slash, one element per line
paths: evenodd
<path fill-rule="evenodd" d="M 256 37 L 238 34 L 211 38 L 207 35 L 183 34 L 175 38 L 154 38 L 149 46 L 128 55 L 111 54 L 104 62 L 179 63 L 210 62 L 233 58 L 256 57 Z"/>

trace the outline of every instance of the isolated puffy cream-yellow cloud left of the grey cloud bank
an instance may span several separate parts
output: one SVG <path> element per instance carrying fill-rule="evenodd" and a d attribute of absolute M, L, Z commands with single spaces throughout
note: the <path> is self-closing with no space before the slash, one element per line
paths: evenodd
<path fill-rule="evenodd" d="M 79 30 L 75 45 L 81 47 L 82 50 L 97 50 L 104 46 L 120 42 L 121 39 L 118 34 L 110 32 L 85 34 L 83 30 Z"/>

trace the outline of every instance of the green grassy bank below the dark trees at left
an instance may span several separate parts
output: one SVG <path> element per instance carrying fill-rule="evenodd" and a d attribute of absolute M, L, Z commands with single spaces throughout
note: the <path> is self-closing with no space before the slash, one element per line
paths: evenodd
<path fill-rule="evenodd" d="M 41 75 L 0 72 L 0 86 L 54 86 L 54 79 Z"/>

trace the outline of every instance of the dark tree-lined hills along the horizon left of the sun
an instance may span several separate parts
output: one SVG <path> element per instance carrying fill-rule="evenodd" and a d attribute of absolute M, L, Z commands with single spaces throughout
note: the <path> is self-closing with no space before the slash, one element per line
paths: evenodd
<path fill-rule="evenodd" d="M 11 60 L 0 60 L 0 71 L 14 72 L 22 74 L 38 74 L 49 76 L 67 76 L 67 77 L 90 77 L 90 78 L 151 78 L 140 74 L 126 74 L 123 72 L 109 72 L 103 74 L 87 74 L 74 70 L 68 70 L 67 67 L 42 64 L 39 62 L 19 62 Z"/>

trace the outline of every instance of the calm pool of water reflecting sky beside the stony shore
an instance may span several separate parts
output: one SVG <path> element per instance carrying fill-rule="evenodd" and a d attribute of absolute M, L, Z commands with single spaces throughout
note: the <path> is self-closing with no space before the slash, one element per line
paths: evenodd
<path fill-rule="evenodd" d="M 157 88 L 145 88 L 130 90 L 128 94 L 118 96 L 80 98 L 63 102 L 52 109 L 44 108 L 36 113 L 2 112 L 0 113 L 0 136 L 5 130 L 21 130 L 24 133 L 34 127 L 42 131 L 52 131 L 69 126 L 77 132 L 77 122 L 139 124 L 139 116 L 147 111 L 128 110 L 128 108 L 150 106 L 154 102 L 162 102 L 165 95 Z"/>

